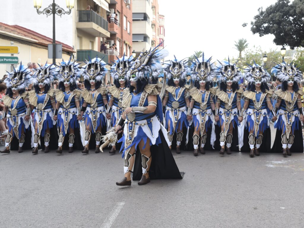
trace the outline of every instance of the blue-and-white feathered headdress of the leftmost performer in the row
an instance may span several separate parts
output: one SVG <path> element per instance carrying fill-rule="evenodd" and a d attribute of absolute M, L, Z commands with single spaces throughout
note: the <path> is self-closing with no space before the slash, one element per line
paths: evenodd
<path fill-rule="evenodd" d="M 11 73 L 7 72 L 7 78 L 5 78 L 4 82 L 7 88 L 15 88 L 17 90 L 25 89 L 31 84 L 32 77 L 31 71 L 20 63 L 20 67 L 16 69 L 14 67 L 14 71 Z"/>

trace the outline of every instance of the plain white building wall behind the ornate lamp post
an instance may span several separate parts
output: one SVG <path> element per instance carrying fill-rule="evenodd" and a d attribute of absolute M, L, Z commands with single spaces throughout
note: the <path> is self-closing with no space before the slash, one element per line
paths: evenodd
<path fill-rule="evenodd" d="M 41 9 L 48 7 L 53 1 L 43 0 Z M 61 8 L 68 10 L 65 0 L 55 1 Z M 77 1 L 75 1 L 76 5 Z M 38 15 L 33 5 L 33 0 L 0 0 L 0 22 L 9 25 L 19 25 L 31 29 L 44 36 L 53 38 L 53 15 Z M 76 12 L 77 13 L 77 12 Z M 75 9 L 70 15 L 55 15 L 56 40 L 73 47 Z"/>

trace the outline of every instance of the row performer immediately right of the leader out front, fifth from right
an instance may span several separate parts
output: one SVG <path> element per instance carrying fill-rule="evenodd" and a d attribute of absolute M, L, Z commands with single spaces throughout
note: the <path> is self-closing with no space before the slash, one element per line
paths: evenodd
<path fill-rule="evenodd" d="M 167 63 L 166 63 L 167 64 Z M 176 153 L 180 154 L 180 145 L 183 137 L 183 128 L 188 129 L 187 108 L 189 106 L 189 98 L 187 97 L 189 85 L 186 85 L 186 74 L 188 67 L 185 61 L 178 61 L 174 56 L 174 60 L 170 60 L 170 64 L 164 67 L 164 73 L 168 78 L 168 85 L 163 100 L 165 111 L 166 129 L 170 141 L 170 148 L 173 140 L 174 132 L 176 138 Z M 188 132 L 186 135 L 188 141 Z"/>

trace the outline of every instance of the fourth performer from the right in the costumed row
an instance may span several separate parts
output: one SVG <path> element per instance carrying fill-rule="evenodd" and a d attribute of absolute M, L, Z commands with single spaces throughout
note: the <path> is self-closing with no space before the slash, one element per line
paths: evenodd
<path fill-rule="evenodd" d="M 201 137 L 200 153 L 205 154 L 204 146 L 207 140 L 207 131 L 211 130 L 210 143 L 214 145 L 216 140 L 215 135 L 215 104 L 213 101 L 216 95 L 216 88 L 212 88 L 212 80 L 216 77 L 216 68 L 210 63 L 211 58 L 204 60 L 204 53 L 202 62 L 196 58 L 191 66 L 191 80 L 194 81 L 194 88 L 189 90 L 191 102 L 188 107 L 187 118 L 194 122 L 193 145 L 194 156 L 199 154 L 199 139 Z"/>

